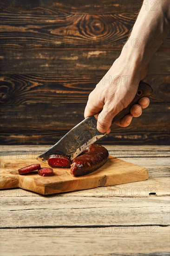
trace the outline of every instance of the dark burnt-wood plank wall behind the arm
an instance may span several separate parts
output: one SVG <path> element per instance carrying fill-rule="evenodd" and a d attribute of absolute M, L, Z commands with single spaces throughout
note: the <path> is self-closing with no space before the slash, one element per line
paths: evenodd
<path fill-rule="evenodd" d="M 142 0 L 1 0 L 0 143 L 54 144 L 84 118 L 88 94 L 120 54 Z M 102 144 L 169 144 L 169 42 L 145 78 L 150 107 Z M 153 47 L 156 42 L 153 40 Z"/>

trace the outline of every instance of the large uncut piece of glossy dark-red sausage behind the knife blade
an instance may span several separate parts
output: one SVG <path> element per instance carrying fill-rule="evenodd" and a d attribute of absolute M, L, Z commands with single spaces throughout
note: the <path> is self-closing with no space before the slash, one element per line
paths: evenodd
<path fill-rule="evenodd" d="M 91 144 L 71 164 L 71 174 L 81 176 L 92 173 L 105 164 L 109 156 L 106 148 Z"/>

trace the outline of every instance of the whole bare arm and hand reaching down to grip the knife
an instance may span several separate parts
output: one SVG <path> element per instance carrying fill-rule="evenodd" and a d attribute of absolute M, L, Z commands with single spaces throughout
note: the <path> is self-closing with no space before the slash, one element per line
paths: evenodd
<path fill-rule="evenodd" d="M 169 0 L 147 0 L 143 2 L 131 35 L 118 59 L 89 95 L 85 117 L 101 111 L 97 128 L 100 132 L 111 131 L 111 121 L 133 100 L 139 81 L 147 74 L 152 56 L 167 37 L 170 29 Z M 149 105 L 142 98 L 131 107 L 131 113 L 117 124 L 126 127 L 133 117 L 142 114 Z"/>

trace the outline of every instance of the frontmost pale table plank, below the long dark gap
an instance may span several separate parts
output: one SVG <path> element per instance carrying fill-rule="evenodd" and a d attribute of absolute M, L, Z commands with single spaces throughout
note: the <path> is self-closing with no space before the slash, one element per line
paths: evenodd
<path fill-rule="evenodd" d="M 142 256 L 168 256 L 170 247 L 170 227 L 159 226 L 28 227 L 1 232 L 3 256 L 137 256 L 139 252 Z M 20 241 L 24 241 L 22 246 Z"/>

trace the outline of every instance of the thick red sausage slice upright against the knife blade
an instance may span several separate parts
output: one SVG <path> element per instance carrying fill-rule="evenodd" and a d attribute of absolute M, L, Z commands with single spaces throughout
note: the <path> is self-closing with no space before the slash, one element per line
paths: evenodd
<path fill-rule="evenodd" d="M 51 167 L 70 168 L 71 161 L 64 155 L 50 155 L 48 158 L 48 164 Z"/>

